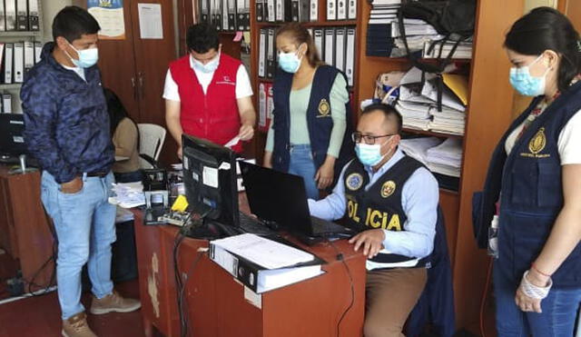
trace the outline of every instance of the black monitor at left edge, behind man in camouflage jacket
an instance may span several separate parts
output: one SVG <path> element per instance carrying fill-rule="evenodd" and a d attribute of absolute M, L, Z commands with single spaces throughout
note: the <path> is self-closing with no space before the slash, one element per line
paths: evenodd
<path fill-rule="evenodd" d="M 23 114 L 0 114 L 0 155 L 26 154 Z"/>

